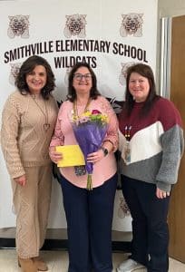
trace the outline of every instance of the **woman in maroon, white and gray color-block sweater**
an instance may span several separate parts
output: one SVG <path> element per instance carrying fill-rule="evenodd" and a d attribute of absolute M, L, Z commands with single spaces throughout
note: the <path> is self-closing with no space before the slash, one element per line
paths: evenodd
<path fill-rule="evenodd" d="M 151 67 L 127 72 L 126 99 L 119 116 L 122 192 L 131 210 L 131 257 L 118 272 L 169 269 L 167 215 L 183 151 L 180 113 L 156 94 Z"/>

